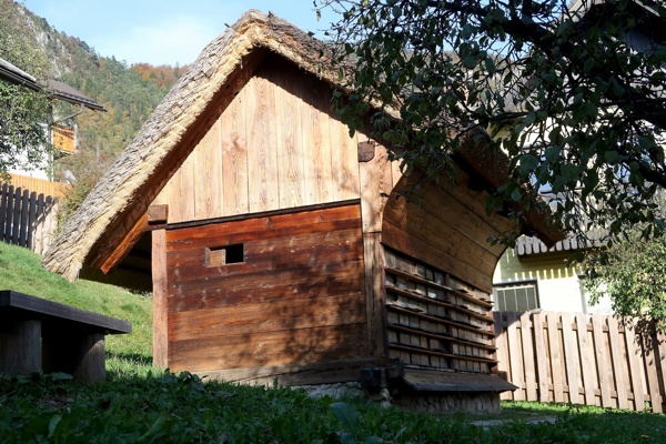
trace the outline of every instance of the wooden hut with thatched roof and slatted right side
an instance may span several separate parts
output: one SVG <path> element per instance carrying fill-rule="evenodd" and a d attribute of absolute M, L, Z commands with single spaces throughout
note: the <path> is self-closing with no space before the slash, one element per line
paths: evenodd
<path fill-rule="evenodd" d="M 285 21 L 245 13 L 180 79 L 43 264 L 152 289 L 160 366 L 362 382 L 395 400 L 492 408 L 511 384 L 493 374 L 490 293 L 505 248 L 487 238 L 515 226 L 487 215 L 485 199 L 506 159 L 470 144 L 455 188 L 430 183 L 406 202 L 386 149 L 350 137 L 331 112 L 340 85 L 325 53 Z M 556 236 L 531 218 L 525 226 Z"/>

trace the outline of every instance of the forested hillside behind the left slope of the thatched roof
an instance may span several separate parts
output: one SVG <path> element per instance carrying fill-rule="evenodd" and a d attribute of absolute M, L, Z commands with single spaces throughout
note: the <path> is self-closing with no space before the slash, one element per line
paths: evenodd
<path fill-rule="evenodd" d="M 186 69 L 148 63 L 128 65 L 113 56 L 97 53 L 77 37 L 54 30 L 46 19 L 34 16 L 21 3 L 0 0 L 0 7 L 13 8 L 12 14 L 29 23 L 36 41 L 46 51 L 53 78 L 74 87 L 108 110 L 105 113 L 87 110 L 77 117 L 80 153 L 56 162 L 57 179 L 63 176 L 65 170 L 77 179 L 99 174 L 100 165 L 108 165 L 127 147 Z"/>

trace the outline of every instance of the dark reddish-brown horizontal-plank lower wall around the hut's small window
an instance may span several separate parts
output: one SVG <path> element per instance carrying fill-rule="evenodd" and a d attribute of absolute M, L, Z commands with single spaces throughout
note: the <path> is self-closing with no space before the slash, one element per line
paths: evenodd
<path fill-rule="evenodd" d="M 167 234 L 171 369 L 369 355 L 357 203 Z M 206 248 L 240 243 L 244 262 L 206 266 Z"/>

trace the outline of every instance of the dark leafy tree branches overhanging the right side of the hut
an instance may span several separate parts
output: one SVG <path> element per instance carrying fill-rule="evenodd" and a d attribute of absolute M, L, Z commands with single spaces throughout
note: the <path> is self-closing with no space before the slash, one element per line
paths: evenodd
<path fill-rule="evenodd" d="M 341 13 L 330 31 L 350 58 L 352 129 L 374 102 L 374 137 L 407 171 L 452 171 L 480 133 L 504 149 L 513 180 L 491 209 L 552 193 L 556 223 L 613 239 L 662 232 L 666 185 L 666 7 L 633 0 L 316 0 Z M 390 112 L 387 112 L 390 111 Z M 386 115 L 400 119 L 386 118 Z M 516 205 L 517 204 L 517 205 Z M 508 236 L 511 239 L 511 236 Z"/>

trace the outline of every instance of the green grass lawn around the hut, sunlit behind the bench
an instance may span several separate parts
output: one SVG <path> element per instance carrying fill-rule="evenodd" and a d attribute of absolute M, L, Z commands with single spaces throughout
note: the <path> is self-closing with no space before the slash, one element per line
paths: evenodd
<path fill-rule="evenodd" d="M 302 390 L 204 382 L 150 366 L 149 296 L 70 283 L 39 256 L 0 243 L 0 289 L 132 322 L 108 337 L 108 381 L 0 374 L 0 443 L 666 443 L 666 416 L 504 403 L 488 416 L 410 413 L 362 400 L 310 398 Z M 538 417 L 555 424 L 528 424 Z M 480 420 L 506 420 L 474 425 Z"/>

